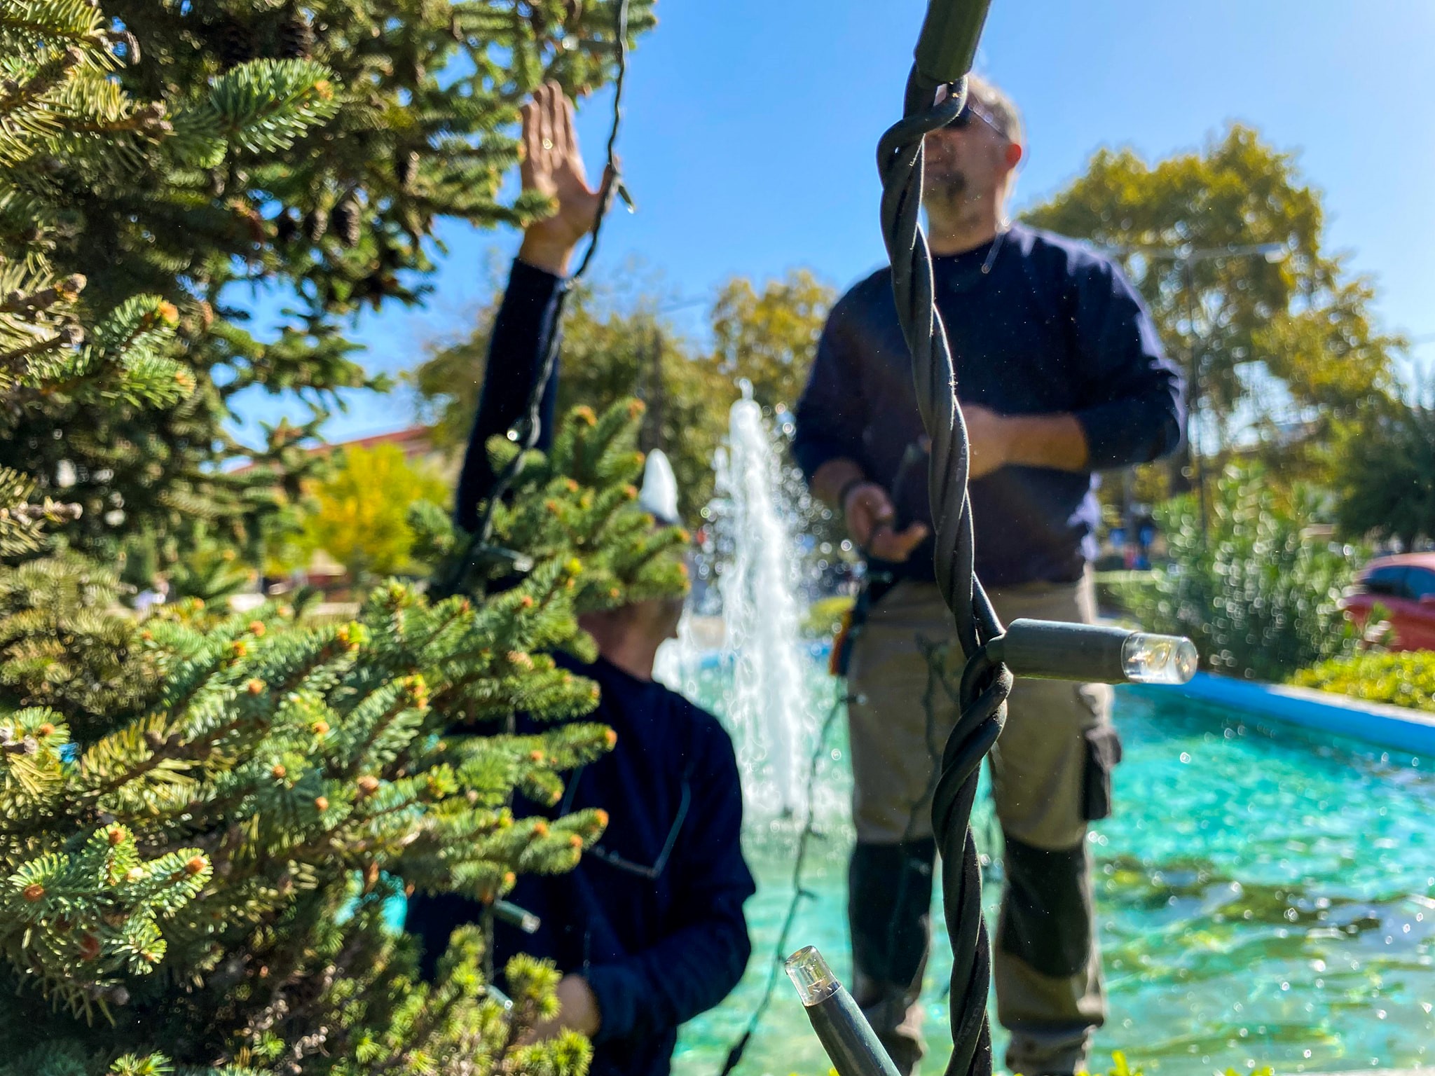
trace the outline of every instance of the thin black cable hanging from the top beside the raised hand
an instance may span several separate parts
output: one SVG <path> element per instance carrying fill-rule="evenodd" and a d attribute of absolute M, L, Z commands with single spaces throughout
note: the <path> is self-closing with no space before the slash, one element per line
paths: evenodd
<path fill-rule="evenodd" d="M 518 443 L 518 453 L 494 476 L 494 488 L 489 491 L 488 499 L 484 502 L 484 511 L 478 516 L 478 527 L 474 528 L 474 532 L 469 535 L 468 542 L 464 547 L 464 552 L 456 557 L 449 570 L 432 584 L 430 590 L 435 597 L 451 597 L 464 590 L 469 571 L 472 571 L 475 562 L 484 551 L 489 548 L 489 538 L 494 532 L 494 511 L 508 494 L 514 479 L 518 478 L 518 472 L 524 465 L 524 453 L 530 452 L 534 445 L 538 443 L 538 435 L 542 432 L 542 396 L 548 387 L 550 379 L 552 377 L 554 367 L 558 363 L 563 308 L 567 304 L 568 294 L 573 291 L 573 285 L 583 277 L 584 273 L 588 271 L 588 265 L 593 263 L 593 255 L 598 250 L 598 235 L 603 231 L 603 222 L 607 220 L 608 208 L 613 202 L 613 194 L 618 185 L 617 143 L 618 129 L 623 123 L 623 86 L 627 82 L 627 24 L 629 0 L 617 0 L 617 20 L 614 26 L 616 37 L 613 42 L 613 47 L 617 53 L 617 75 L 613 80 L 613 123 L 608 128 L 606 162 L 603 166 L 603 184 L 598 188 L 598 214 L 593 221 L 588 248 L 583 253 L 583 258 L 578 261 L 578 268 L 558 283 L 558 293 L 554 297 L 552 323 L 548 330 L 548 351 L 544 354 L 538 377 L 534 380 L 532 389 L 528 393 L 528 402 L 522 417 L 519 417 L 519 420 L 514 425 L 514 429 L 509 430 L 509 436 L 512 436 L 512 439 Z"/>

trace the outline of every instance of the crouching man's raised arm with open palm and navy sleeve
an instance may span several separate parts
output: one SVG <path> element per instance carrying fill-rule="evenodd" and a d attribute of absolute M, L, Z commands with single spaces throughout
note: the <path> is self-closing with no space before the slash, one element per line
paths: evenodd
<path fill-rule="evenodd" d="M 522 121 L 522 189 L 548 197 L 557 209 L 524 230 L 494 320 L 484 389 L 455 496 L 453 521 L 465 531 L 478 527 L 478 505 L 488 499 L 497 482 L 488 442 L 512 429 L 528 409 L 534 383 L 550 347 L 555 346 L 561 277 L 568 271 L 574 247 L 593 228 L 598 209 L 598 192 L 587 184 L 573 131 L 573 103 L 563 90 L 555 83 L 540 86 L 534 99 L 524 105 Z M 557 395 L 558 367 L 554 363 L 538 409 L 537 448 L 547 448 L 552 440 Z"/>

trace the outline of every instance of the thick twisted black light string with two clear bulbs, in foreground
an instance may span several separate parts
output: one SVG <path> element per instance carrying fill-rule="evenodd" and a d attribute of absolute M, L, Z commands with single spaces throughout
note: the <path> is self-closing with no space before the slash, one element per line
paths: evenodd
<path fill-rule="evenodd" d="M 951 610 L 966 666 L 960 716 L 941 753 L 931 823 L 941 855 L 941 892 L 951 941 L 951 1059 L 947 1076 L 990 1076 L 987 993 L 990 943 L 982 915 L 982 867 L 971 834 L 982 760 L 1006 723 L 1013 676 L 1076 681 L 1184 683 L 1195 671 L 1190 640 L 1122 628 L 1016 620 L 1003 628 L 974 568 L 970 443 L 956 395 L 956 370 L 936 307 L 931 254 L 921 231 L 923 141 L 966 106 L 967 72 L 990 0 L 931 0 L 907 80 L 903 118 L 878 143 L 881 224 L 893 294 L 911 353 L 917 409 L 931 445 L 936 578 Z M 815 958 L 815 960 L 814 960 Z M 818 967 L 821 964 L 821 967 Z M 893 1073 L 871 1027 L 811 947 L 788 974 L 839 1076 Z M 832 986 L 835 983 L 835 987 Z M 847 1001 L 844 1001 L 844 997 Z"/>

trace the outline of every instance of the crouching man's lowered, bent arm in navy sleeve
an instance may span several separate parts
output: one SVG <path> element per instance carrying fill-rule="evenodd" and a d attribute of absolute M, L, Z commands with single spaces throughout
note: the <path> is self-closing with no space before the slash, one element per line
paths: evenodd
<path fill-rule="evenodd" d="M 742 858 L 742 786 L 716 726 L 693 776 L 687 832 L 669 865 L 674 920 L 656 945 L 585 973 L 598 1010 L 594 1043 L 662 1034 L 720 1003 L 752 955 L 742 905 L 755 892 Z"/>

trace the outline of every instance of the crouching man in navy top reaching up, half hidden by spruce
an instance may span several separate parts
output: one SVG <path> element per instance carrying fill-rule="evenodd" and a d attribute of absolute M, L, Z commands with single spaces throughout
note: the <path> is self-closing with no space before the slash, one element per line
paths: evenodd
<path fill-rule="evenodd" d="M 524 232 L 489 343 L 478 417 L 459 481 L 456 521 L 476 525 L 494 485 L 485 443 L 522 415 L 550 337 L 554 301 L 577 242 L 591 230 L 598 195 L 587 185 L 563 90 L 544 86 L 524 106 L 525 191 L 557 212 Z M 544 386 L 542 436 L 552 430 L 557 369 Z M 650 453 L 640 504 L 676 522 L 670 469 Z M 515 805 L 552 816 L 585 808 L 608 813 L 600 842 L 570 874 L 519 878 L 509 900 L 540 918 L 535 934 L 499 922 L 495 966 L 515 953 L 552 960 L 564 973 L 561 1011 L 537 1029 L 574 1029 L 593 1039 L 594 1076 L 662 1076 L 677 1027 L 738 984 L 751 955 L 743 902 L 755 892 L 742 858 L 742 791 L 732 740 L 718 719 L 653 680 L 653 660 L 676 634 L 682 601 L 643 601 L 585 615 L 598 660 L 567 654 L 564 669 L 597 681 L 598 709 L 584 720 L 617 732 L 617 746 L 571 775 L 557 808 Z M 537 726 L 519 716 L 522 732 Z M 416 895 L 408 927 L 432 967 L 449 933 L 478 918 L 474 902 Z"/>

